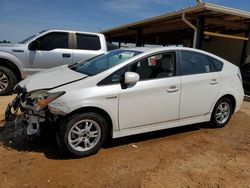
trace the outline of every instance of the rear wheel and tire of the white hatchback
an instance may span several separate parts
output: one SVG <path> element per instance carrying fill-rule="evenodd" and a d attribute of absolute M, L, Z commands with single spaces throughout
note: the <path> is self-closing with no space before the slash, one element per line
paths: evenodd
<path fill-rule="evenodd" d="M 231 119 L 233 112 L 232 102 L 228 98 L 221 98 L 214 106 L 211 123 L 214 127 L 222 128 Z"/>

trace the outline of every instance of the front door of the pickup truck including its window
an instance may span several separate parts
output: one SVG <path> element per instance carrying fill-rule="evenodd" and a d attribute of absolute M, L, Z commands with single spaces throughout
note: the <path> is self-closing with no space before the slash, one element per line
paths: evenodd
<path fill-rule="evenodd" d="M 27 57 L 28 73 L 72 63 L 69 33 L 51 32 L 39 37 L 36 41 L 39 44 L 38 48 L 29 50 Z"/>

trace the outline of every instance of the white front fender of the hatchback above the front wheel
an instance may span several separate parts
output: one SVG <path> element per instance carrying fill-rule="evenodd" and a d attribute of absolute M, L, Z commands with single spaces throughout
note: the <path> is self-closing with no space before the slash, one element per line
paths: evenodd
<path fill-rule="evenodd" d="M 91 78 L 87 77 L 86 80 Z M 80 84 L 79 84 L 80 83 Z M 83 83 L 83 82 L 82 82 Z M 109 85 L 97 87 L 96 85 L 85 85 L 81 81 L 63 86 L 64 89 L 72 90 L 67 95 L 63 95 L 49 104 L 66 114 L 77 109 L 86 107 L 96 107 L 106 111 L 113 123 L 113 130 L 119 130 L 118 123 L 118 90 L 120 85 Z M 79 87 L 80 86 L 80 87 Z M 75 89 L 78 87 L 78 89 Z M 61 88 L 51 90 L 51 92 L 60 91 Z M 77 98 L 75 96 L 78 96 Z"/>

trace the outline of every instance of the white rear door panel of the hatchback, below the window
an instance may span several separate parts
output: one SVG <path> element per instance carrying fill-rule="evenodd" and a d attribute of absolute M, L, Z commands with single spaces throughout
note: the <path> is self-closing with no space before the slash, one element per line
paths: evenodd
<path fill-rule="evenodd" d="M 220 85 L 221 79 L 218 72 L 181 76 L 179 118 L 203 116 L 209 113 L 214 98 L 219 93 Z"/>

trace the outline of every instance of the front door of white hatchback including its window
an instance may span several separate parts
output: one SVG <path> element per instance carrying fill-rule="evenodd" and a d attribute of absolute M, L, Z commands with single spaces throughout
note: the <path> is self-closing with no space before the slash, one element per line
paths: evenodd
<path fill-rule="evenodd" d="M 131 64 L 130 71 L 138 73 L 140 80 L 119 88 L 120 129 L 178 119 L 180 77 L 175 60 L 174 52 L 165 52 Z"/>

